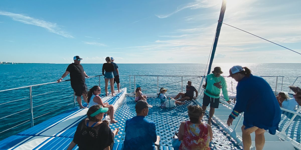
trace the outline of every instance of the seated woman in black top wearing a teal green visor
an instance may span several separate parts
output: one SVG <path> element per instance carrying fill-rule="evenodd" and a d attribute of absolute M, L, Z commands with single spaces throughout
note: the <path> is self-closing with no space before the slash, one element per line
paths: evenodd
<path fill-rule="evenodd" d="M 77 126 L 73 140 L 67 150 L 73 149 L 76 144 L 79 149 L 112 149 L 114 137 L 118 134 L 119 128 L 112 132 L 109 122 L 102 121 L 104 113 L 108 110 L 101 105 L 90 107 L 87 112 L 88 118 L 83 119 Z"/>

